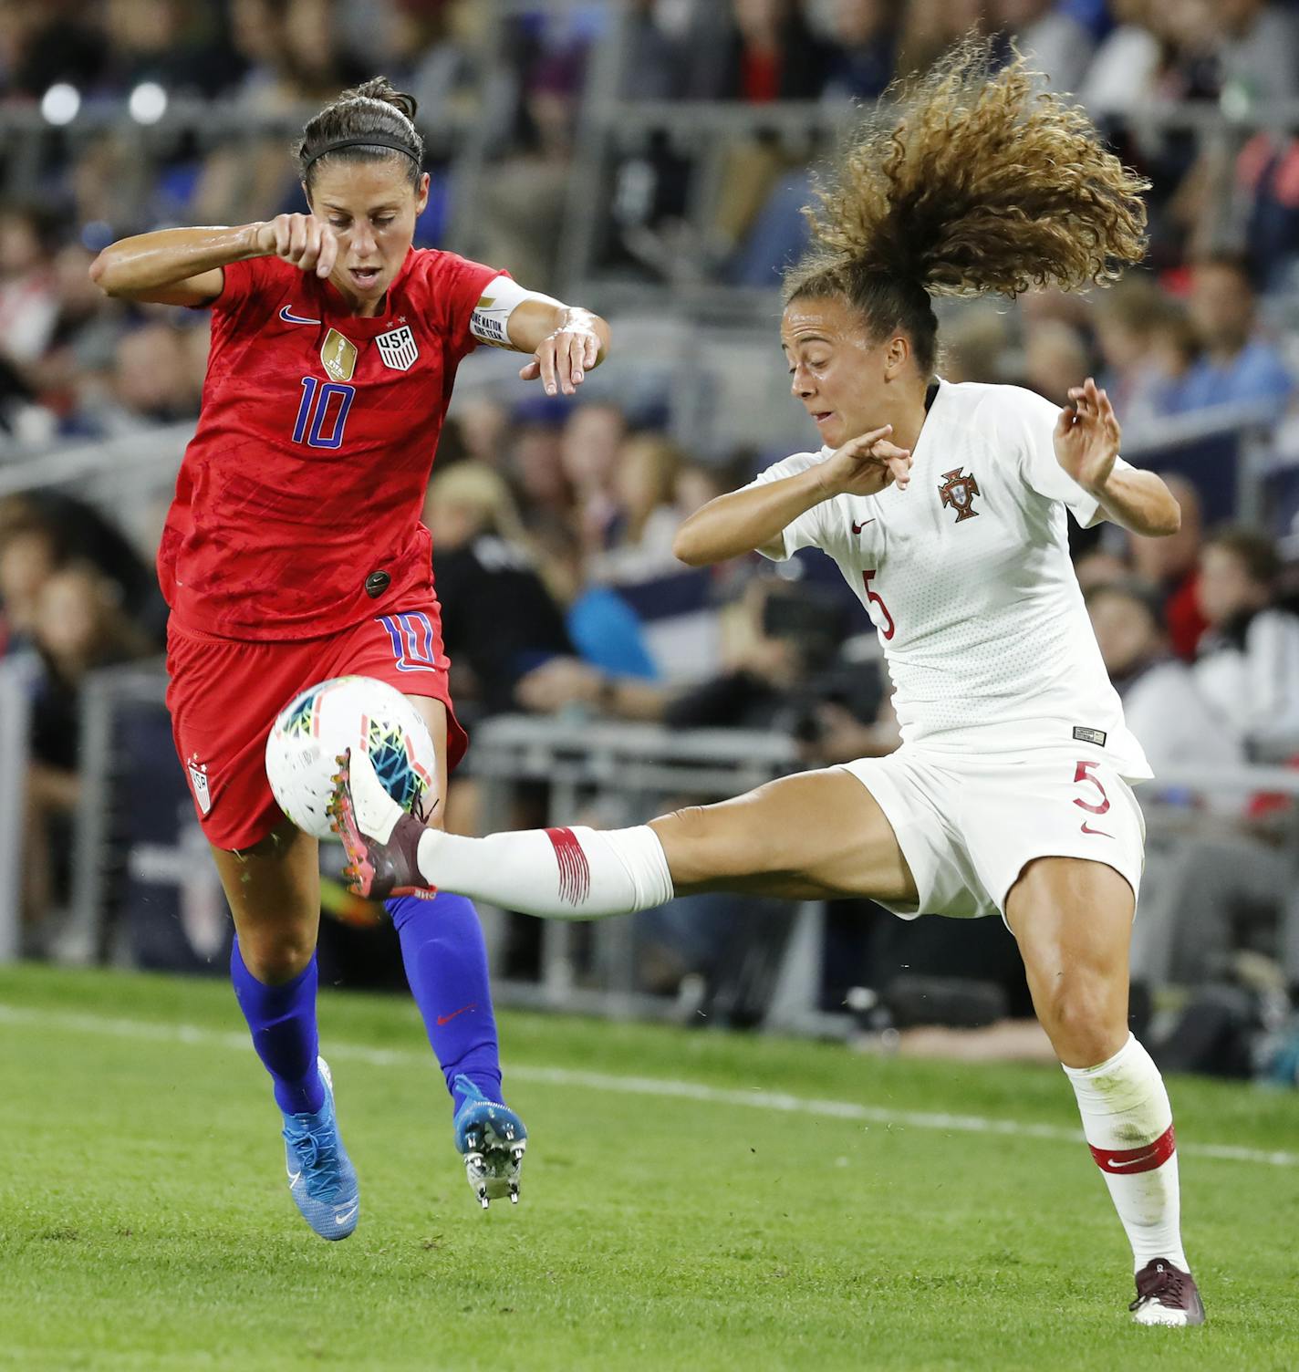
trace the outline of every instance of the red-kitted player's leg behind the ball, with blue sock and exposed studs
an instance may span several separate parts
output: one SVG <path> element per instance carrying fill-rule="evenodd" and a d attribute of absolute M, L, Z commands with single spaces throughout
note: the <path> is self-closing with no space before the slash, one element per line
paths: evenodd
<path fill-rule="evenodd" d="M 447 788 L 447 711 L 440 700 L 410 696 L 438 755 L 438 794 Z M 444 807 L 428 816 L 443 826 Z M 473 903 L 451 890 L 390 896 L 384 901 L 402 947 L 406 981 L 453 1100 L 455 1147 L 473 1194 L 519 1200 L 528 1131 L 503 1103 L 501 1050 L 491 1004 L 483 927 Z"/>

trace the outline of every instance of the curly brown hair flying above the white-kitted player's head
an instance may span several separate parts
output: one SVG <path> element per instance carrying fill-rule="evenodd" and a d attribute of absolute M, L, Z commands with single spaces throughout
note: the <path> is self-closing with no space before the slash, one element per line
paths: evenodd
<path fill-rule="evenodd" d="M 818 187 L 785 299 L 839 296 L 874 336 L 905 329 L 927 373 L 933 296 L 1107 285 L 1145 252 L 1147 189 L 1021 54 L 997 70 L 992 44 L 968 37 L 890 88 Z"/>

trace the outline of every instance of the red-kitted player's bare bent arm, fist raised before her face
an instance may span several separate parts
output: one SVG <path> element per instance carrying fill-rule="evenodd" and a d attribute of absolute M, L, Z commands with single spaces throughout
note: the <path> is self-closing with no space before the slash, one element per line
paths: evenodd
<path fill-rule="evenodd" d="M 91 263 L 91 280 L 126 300 L 211 305 L 232 262 L 281 257 L 300 272 L 326 277 L 337 251 L 328 224 L 310 214 L 280 214 L 237 228 L 158 229 L 121 239 Z"/>

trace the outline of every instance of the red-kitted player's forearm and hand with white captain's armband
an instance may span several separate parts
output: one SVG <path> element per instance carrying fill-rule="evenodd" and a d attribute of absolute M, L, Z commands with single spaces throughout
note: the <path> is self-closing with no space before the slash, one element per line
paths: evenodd
<path fill-rule="evenodd" d="M 525 381 L 540 379 L 547 395 L 572 395 L 582 377 L 609 355 L 609 325 L 598 314 L 525 291 L 508 276 L 487 284 L 469 332 L 481 343 L 531 353 L 532 361 L 519 375 Z"/>

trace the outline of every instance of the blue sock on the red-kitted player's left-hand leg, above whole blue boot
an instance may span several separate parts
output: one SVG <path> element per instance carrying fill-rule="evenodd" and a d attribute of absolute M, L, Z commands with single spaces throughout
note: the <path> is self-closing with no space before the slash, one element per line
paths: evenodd
<path fill-rule="evenodd" d="M 267 986 L 244 966 L 236 938 L 230 981 L 252 1030 L 252 1047 L 276 1084 L 276 1104 L 287 1114 L 314 1114 L 325 1103 L 315 1066 L 315 954 L 292 981 Z"/>

